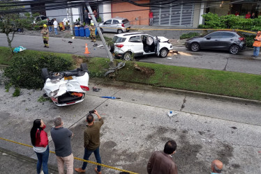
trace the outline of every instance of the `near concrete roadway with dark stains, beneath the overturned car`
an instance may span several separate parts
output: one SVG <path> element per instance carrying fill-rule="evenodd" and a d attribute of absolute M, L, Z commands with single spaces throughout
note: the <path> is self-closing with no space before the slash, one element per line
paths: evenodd
<path fill-rule="evenodd" d="M 42 118 L 50 135 L 54 116 L 61 116 L 64 127 L 75 134 L 73 155 L 83 157 L 85 116 L 96 109 L 104 118 L 101 129 L 100 153 L 103 164 L 137 173 L 147 173 L 146 166 L 154 150 L 163 150 L 169 139 L 177 141 L 173 155 L 179 173 L 210 173 L 213 159 L 224 163 L 223 173 L 261 173 L 261 107 L 248 103 L 193 97 L 163 90 L 142 90 L 108 86 L 91 81 L 100 92 L 89 91 L 83 102 L 58 107 L 52 102 L 37 102 L 43 92 L 22 89 L 22 95 L 12 97 L 0 85 L 0 137 L 30 144 L 29 132 L 36 118 Z M 100 96 L 121 97 L 108 100 Z M 169 118 L 167 111 L 177 112 Z M 0 140 L 0 147 L 36 159 L 31 148 Z M 50 150 L 54 144 L 50 139 Z M 90 158 L 95 161 L 94 155 Z M 1 162 L 0 168 L 8 163 Z M 54 155 L 49 164 L 56 166 Z M 74 166 L 81 162 L 75 160 Z M 11 167 L 11 166 L 9 166 Z M 94 173 L 89 164 L 87 173 Z M 119 173 L 103 168 L 103 173 Z M 22 172 L 20 172 L 22 173 Z"/>

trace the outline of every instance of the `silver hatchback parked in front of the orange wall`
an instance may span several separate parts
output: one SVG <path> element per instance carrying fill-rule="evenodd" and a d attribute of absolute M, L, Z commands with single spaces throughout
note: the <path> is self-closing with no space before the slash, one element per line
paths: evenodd
<path fill-rule="evenodd" d="M 114 33 L 124 33 L 130 30 L 130 22 L 126 18 L 114 17 L 103 23 L 99 24 L 100 31 L 103 32 L 114 32 Z"/>

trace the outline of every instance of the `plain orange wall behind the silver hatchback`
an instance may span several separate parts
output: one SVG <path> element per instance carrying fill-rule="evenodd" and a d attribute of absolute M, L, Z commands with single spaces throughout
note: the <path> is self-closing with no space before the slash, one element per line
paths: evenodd
<path fill-rule="evenodd" d="M 135 3 L 149 3 L 149 0 L 135 1 Z M 130 24 L 133 25 L 149 25 L 149 7 L 135 6 L 131 3 L 112 3 L 112 17 L 124 17 L 130 21 Z M 129 10 L 142 10 L 142 11 L 133 11 L 133 12 L 124 12 L 124 13 L 114 13 L 120 11 L 129 11 Z M 138 17 L 138 20 L 135 18 Z"/>

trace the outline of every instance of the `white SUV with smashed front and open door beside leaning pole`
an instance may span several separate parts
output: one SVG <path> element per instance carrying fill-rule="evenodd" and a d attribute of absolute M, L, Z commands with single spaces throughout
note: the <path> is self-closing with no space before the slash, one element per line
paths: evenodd
<path fill-rule="evenodd" d="M 173 49 L 169 40 L 162 36 L 151 36 L 145 33 L 121 33 L 114 35 L 110 51 L 119 58 L 130 61 L 134 56 L 156 54 L 165 58 Z"/>

